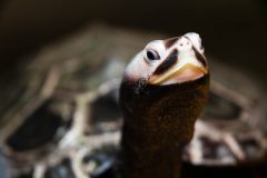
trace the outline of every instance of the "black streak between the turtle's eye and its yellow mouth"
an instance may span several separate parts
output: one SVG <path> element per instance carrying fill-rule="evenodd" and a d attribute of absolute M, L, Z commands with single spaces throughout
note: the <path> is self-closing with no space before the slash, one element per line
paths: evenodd
<path fill-rule="evenodd" d="M 178 60 L 178 50 L 174 49 L 162 63 L 155 70 L 154 75 L 160 75 L 174 66 Z"/>

